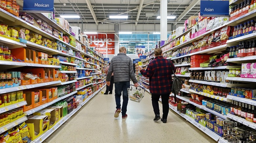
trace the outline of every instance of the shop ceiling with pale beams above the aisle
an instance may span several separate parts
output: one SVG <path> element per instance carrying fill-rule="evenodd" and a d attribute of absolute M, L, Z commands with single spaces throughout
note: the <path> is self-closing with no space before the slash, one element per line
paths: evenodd
<path fill-rule="evenodd" d="M 198 15 L 200 0 L 167 0 L 168 23 L 183 24 L 190 16 Z M 160 0 L 54 0 L 55 15 L 79 15 L 67 19 L 70 23 L 94 24 L 159 24 Z M 110 15 L 128 16 L 110 19 Z"/>

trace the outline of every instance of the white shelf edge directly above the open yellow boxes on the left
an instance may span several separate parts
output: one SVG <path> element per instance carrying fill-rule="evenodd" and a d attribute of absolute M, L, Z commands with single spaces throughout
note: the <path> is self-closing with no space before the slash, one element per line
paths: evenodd
<path fill-rule="evenodd" d="M 45 103 L 45 104 L 43 104 L 43 105 L 40 105 L 40 106 L 38 106 L 38 107 L 36 107 L 36 108 L 33 108 L 33 109 L 29 110 L 29 111 L 26 111 L 26 112 L 24 112 L 24 113 L 25 113 L 26 116 L 27 116 L 27 115 L 31 115 L 31 114 L 33 114 L 33 113 L 35 113 L 35 112 L 37 112 L 37 111 L 39 111 L 39 110 L 41 110 L 41 109 L 44 109 L 44 108 L 46 108 L 46 107 L 52 105 L 53 103 L 56 103 L 56 102 L 58 102 L 58 101 L 60 101 L 60 100 L 62 100 L 62 99 L 65 99 L 65 98 L 67 98 L 67 97 L 69 97 L 69 96 L 71 96 L 71 95 L 73 95 L 73 94 L 75 94 L 75 93 L 77 93 L 77 91 L 71 92 L 71 93 L 69 93 L 69 94 L 67 94 L 67 95 L 65 95 L 65 96 L 62 96 L 62 97 L 58 97 L 57 99 L 55 99 L 55 100 L 53 100 L 53 101 L 51 101 L 51 102 Z"/>

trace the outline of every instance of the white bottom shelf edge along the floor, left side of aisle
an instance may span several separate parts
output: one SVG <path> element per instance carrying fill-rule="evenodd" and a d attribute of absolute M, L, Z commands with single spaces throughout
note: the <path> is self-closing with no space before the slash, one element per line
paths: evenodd
<path fill-rule="evenodd" d="M 87 103 L 91 98 L 93 98 L 101 89 L 103 89 L 106 85 L 101 87 L 99 90 L 97 90 L 93 95 L 91 95 L 89 98 L 87 98 L 83 103 L 77 106 L 70 114 L 60 119 L 60 121 L 54 125 L 50 130 L 46 131 L 44 134 L 40 135 L 38 138 L 33 140 L 33 143 L 42 143 L 44 140 L 46 140 L 50 135 L 53 134 L 54 131 L 56 131 L 62 124 L 64 124 L 68 119 L 71 118 L 85 103 Z"/>

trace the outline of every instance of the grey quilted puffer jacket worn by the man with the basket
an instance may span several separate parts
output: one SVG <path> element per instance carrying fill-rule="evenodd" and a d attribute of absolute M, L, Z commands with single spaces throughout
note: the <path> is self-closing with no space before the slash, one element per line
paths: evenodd
<path fill-rule="evenodd" d="M 112 58 L 106 81 L 110 81 L 112 72 L 114 72 L 114 82 L 130 81 L 130 79 L 133 83 L 138 82 L 133 72 L 132 59 L 124 53 L 119 53 Z"/>

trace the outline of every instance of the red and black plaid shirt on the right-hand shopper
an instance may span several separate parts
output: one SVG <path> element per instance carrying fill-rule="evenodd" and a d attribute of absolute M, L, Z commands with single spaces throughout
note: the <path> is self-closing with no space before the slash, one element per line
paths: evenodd
<path fill-rule="evenodd" d="M 175 67 L 171 60 L 157 56 L 151 61 L 146 70 L 140 73 L 149 77 L 149 91 L 153 94 L 167 94 L 172 90 L 172 74 Z"/>

